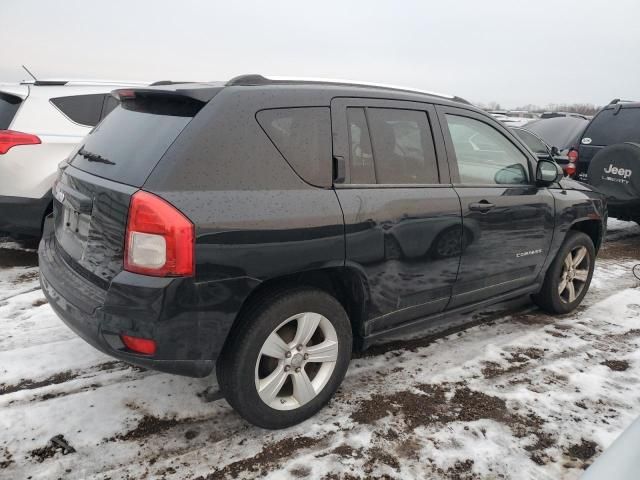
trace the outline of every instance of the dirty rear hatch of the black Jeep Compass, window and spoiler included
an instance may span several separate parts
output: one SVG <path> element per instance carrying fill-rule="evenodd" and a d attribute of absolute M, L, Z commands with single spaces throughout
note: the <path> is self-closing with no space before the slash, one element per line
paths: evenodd
<path fill-rule="evenodd" d="M 104 289 L 123 269 L 132 195 L 206 103 L 175 92 L 120 92 L 121 105 L 84 138 L 53 188 L 56 249 Z"/>

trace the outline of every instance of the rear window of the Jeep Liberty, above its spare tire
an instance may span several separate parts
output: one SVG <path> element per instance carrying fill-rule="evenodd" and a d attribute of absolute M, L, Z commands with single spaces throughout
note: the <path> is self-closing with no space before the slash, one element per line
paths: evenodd
<path fill-rule="evenodd" d="M 640 142 L 640 108 L 607 108 L 594 117 L 583 138 L 591 145 Z M 584 143 L 584 140 L 583 140 Z"/>

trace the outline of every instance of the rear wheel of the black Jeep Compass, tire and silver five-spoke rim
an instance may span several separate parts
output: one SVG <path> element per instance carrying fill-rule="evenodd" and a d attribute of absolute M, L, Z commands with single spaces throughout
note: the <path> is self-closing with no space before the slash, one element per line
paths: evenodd
<path fill-rule="evenodd" d="M 263 428 L 313 416 L 338 389 L 351 360 L 351 324 L 342 305 L 324 291 L 294 287 L 262 295 L 241 315 L 217 363 L 226 400 Z"/>

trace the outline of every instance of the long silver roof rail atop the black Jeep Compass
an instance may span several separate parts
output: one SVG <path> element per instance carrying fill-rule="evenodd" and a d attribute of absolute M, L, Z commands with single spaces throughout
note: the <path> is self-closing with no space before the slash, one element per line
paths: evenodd
<path fill-rule="evenodd" d="M 466 103 L 471 105 L 471 102 L 465 100 L 464 98 L 456 97 L 453 95 L 447 95 L 445 93 L 435 93 L 429 92 L 425 90 L 418 90 L 414 88 L 400 87 L 396 85 L 386 85 L 383 83 L 370 83 L 370 82 L 360 82 L 353 80 L 342 80 L 342 79 L 329 79 L 329 78 L 304 78 L 304 77 L 271 77 L 267 78 L 260 74 L 246 74 L 246 75 L 238 75 L 237 77 L 233 77 L 229 80 L 225 86 L 233 87 L 233 86 L 258 86 L 258 85 L 286 85 L 286 84 L 316 84 L 316 85 L 343 85 L 349 87 L 369 87 L 369 88 L 380 88 L 385 90 L 396 90 L 399 92 L 409 92 L 409 93 L 421 93 L 425 95 L 433 95 L 436 97 L 447 98 L 450 100 L 454 100 L 460 103 Z"/>

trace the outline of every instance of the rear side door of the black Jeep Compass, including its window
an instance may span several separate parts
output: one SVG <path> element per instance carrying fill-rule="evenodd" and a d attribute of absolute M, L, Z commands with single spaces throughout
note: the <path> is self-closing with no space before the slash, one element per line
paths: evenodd
<path fill-rule="evenodd" d="M 366 278 L 369 335 L 442 311 L 460 257 L 460 201 L 432 105 L 332 102 L 346 265 Z M 344 165 L 344 168 L 341 166 Z"/>

